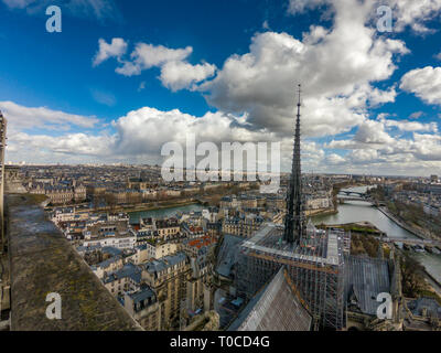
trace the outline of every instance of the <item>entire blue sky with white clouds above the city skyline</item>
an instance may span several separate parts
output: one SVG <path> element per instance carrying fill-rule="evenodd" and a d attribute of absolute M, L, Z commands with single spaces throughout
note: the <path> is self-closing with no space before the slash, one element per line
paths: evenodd
<path fill-rule="evenodd" d="M 49 33 L 45 9 L 62 10 Z M 392 32 L 380 32 L 387 4 Z M 280 141 L 303 85 L 304 169 L 441 173 L 441 0 L 0 1 L 7 160 L 160 162 Z"/>

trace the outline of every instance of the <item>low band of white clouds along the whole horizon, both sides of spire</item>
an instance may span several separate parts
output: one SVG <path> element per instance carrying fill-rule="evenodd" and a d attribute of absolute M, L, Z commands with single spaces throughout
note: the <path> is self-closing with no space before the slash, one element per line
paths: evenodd
<path fill-rule="evenodd" d="M 9 121 L 11 116 L 4 114 Z M 63 114 L 58 113 L 58 116 Z M 71 118 L 66 118 L 69 120 Z M 12 119 L 14 120 L 14 119 Z M 58 121 L 58 120 L 55 120 Z M 411 139 L 392 137 L 387 131 L 390 128 L 401 128 L 410 131 L 404 125 L 383 116 L 377 120 L 365 120 L 352 139 L 333 140 L 321 143 L 303 140 L 302 165 L 304 170 L 361 172 L 365 169 L 400 171 L 405 163 L 415 165 L 402 173 L 409 174 L 424 171 L 423 168 L 441 167 L 441 138 L 438 135 L 424 133 L 430 125 L 412 126 Z M 90 121 L 83 121 L 92 126 Z M 196 143 L 209 141 L 220 147 L 222 142 L 281 142 L 282 170 L 289 170 L 292 153 L 292 137 L 284 137 L 268 130 L 252 130 L 247 122 L 247 116 L 234 116 L 222 111 L 207 113 L 196 117 L 178 109 L 163 111 L 143 107 L 129 111 L 112 122 L 114 131 L 104 130 L 96 133 L 66 132 L 60 136 L 31 135 L 18 132 L 10 135 L 8 158 L 34 162 L 150 162 L 161 163 L 161 147 L 170 141 L 185 147 L 189 133 L 196 138 Z M 326 153 L 327 149 L 343 150 L 347 153 Z M 422 163 L 419 169 L 418 162 Z M 392 167 L 390 167 L 392 165 Z M 413 168 L 413 167 L 412 167 Z"/>

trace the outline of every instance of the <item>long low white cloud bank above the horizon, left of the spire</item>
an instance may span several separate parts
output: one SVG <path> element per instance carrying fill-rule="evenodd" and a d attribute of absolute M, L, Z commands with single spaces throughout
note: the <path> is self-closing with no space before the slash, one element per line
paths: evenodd
<path fill-rule="evenodd" d="M 4 111 L 4 116 L 8 121 L 14 121 L 15 116 L 10 113 L 11 110 Z M 75 117 L 62 116 L 60 111 L 58 116 L 66 119 Z M 185 146 L 189 133 L 195 135 L 196 142 L 209 141 L 217 146 L 222 142 L 276 140 L 273 133 L 250 131 L 243 117 L 223 113 L 207 113 L 195 117 L 178 109 L 162 111 L 144 107 L 118 118 L 112 127 L 115 132 L 111 135 L 101 131 L 96 135 L 79 132 L 47 136 L 21 131 L 10 137 L 9 152 L 12 156 L 26 156 L 26 151 L 50 151 L 77 156 L 78 159 L 85 156 L 103 160 L 125 158 L 126 161 L 148 158 L 158 162 L 161 160 L 160 152 L 164 143 L 175 141 Z M 20 160 L 19 157 L 18 159 Z"/>

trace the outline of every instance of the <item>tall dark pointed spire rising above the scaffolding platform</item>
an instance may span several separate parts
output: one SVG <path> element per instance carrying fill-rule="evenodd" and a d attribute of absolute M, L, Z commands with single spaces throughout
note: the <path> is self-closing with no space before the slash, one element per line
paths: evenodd
<path fill-rule="evenodd" d="M 292 170 L 287 193 L 287 216 L 284 218 L 283 239 L 287 243 L 300 243 L 305 229 L 302 202 L 302 175 L 300 169 L 300 85 L 299 101 L 297 104 L 297 121 L 294 135 L 294 151 L 292 154 Z"/>

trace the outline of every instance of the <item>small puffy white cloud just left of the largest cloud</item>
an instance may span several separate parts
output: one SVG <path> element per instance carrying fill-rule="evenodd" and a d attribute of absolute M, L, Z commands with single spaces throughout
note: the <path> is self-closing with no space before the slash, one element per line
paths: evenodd
<path fill-rule="evenodd" d="M 190 88 L 194 83 L 213 76 L 215 72 L 216 66 L 207 63 L 192 65 L 182 61 L 172 61 L 162 66 L 160 79 L 165 87 L 175 92 Z"/>

